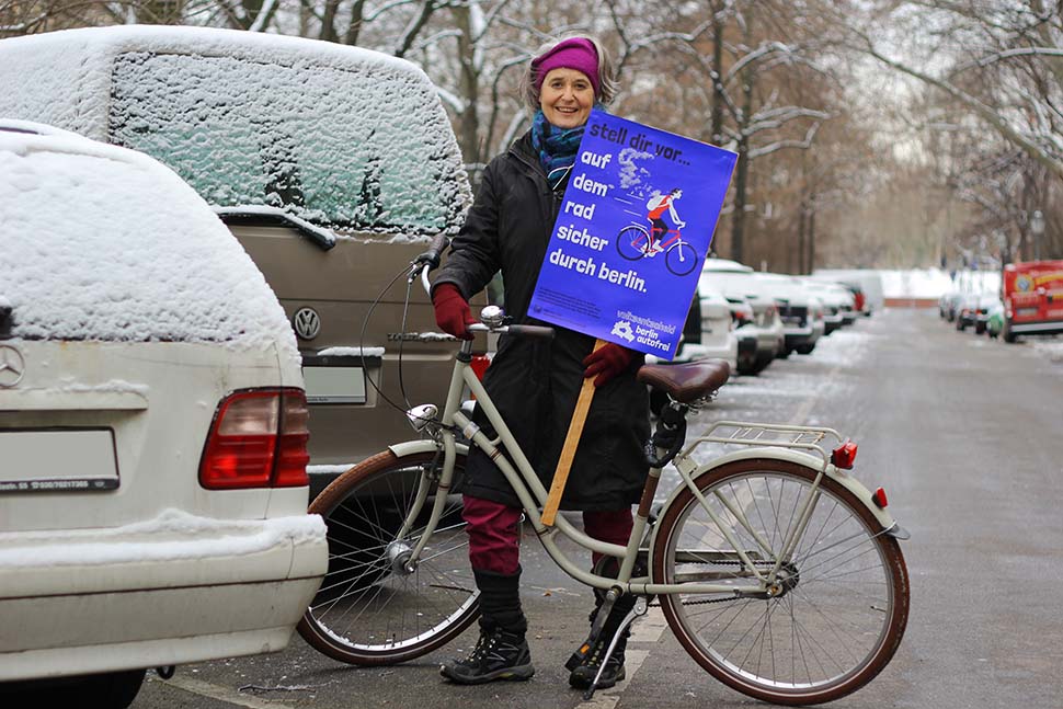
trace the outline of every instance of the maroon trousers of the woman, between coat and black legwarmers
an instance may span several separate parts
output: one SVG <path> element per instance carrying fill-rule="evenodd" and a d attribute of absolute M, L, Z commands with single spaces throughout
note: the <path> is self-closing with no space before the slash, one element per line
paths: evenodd
<path fill-rule="evenodd" d="M 477 571 L 514 574 L 521 565 L 521 546 L 517 523 L 521 510 L 490 500 L 465 495 L 466 533 L 469 535 L 469 560 Z M 587 536 L 626 546 L 631 536 L 631 508 L 584 512 L 583 529 Z M 592 554 L 597 563 L 603 554 Z"/>

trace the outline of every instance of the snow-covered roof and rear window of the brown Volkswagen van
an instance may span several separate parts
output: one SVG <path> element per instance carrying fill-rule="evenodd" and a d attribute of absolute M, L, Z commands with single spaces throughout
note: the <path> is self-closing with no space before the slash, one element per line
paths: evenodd
<path fill-rule="evenodd" d="M 471 192 L 435 87 L 415 65 L 302 37 L 88 27 L 0 41 L 0 116 L 146 152 L 220 207 L 422 240 Z"/>

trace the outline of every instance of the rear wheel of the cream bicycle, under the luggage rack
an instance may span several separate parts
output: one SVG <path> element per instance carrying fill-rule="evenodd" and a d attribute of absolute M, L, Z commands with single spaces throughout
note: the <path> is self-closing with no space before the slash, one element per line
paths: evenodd
<path fill-rule="evenodd" d="M 900 546 L 825 476 L 774 588 L 730 590 L 757 585 L 738 549 L 762 574 L 776 565 L 815 476 L 776 459 L 727 464 L 697 478 L 704 505 L 683 490 L 659 523 L 655 580 L 728 588 L 662 596 L 673 632 L 712 676 L 764 701 L 819 704 L 859 689 L 889 663 L 907 622 Z"/>

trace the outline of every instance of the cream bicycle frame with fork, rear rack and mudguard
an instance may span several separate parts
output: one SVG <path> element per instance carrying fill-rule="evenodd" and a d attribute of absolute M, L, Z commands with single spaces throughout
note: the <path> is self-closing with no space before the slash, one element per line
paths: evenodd
<path fill-rule="evenodd" d="M 653 501 L 653 495 L 656 491 L 658 483 L 660 482 L 662 469 L 651 468 L 649 471 L 649 477 L 642 493 L 642 500 L 639 504 L 638 511 L 635 514 L 633 528 L 626 546 L 608 544 L 594 539 L 582 530 L 578 529 L 568 519 L 565 519 L 564 516 L 561 515 L 557 517 L 555 526 L 548 527 L 544 525 L 540 518 L 539 508 L 545 504 L 548 491 L 535 474 L 530 462 L 528 461 L 524 451 L 521 449 L 516 439 L 513 437 L 513 434 L 506 426 L 501 413 L 491 401 L 491 398 L 483 388 L 483 385 L 472 370 L 470 365 L 471 346 L 471 342 L 462 343 L 461 350 L 455 359 L 455 367 L 450 378 L 446 404 L 439 420 L 442 426 L 435 426 L 434 431 L 432 431 L 434 441 L 418 442 L 418 447 L 424 446 L 426 449 L 442 448 L 443 467 L 436 484 L 438 490 L 443 491 L 443 494 L 437 494 L 435 496 L 434 506 L 431 510 L 430 518 L 427 525 L 425 526 L 424 533 L 422 534 L 418 544 L 414 546 L 409 559 L 405 562 L 411 570 L 413 567 L 415 567 L 416 560 L 420 558 L 420 554 L 424 550 L 428 539 L 432 536 L 432 533 L 435 530 L 436 525 L 438 524 L 443 508 L 446 504 L 446 491 L 449 491 L 452 488 L 455 462 L 458 453 L 458 444 L 454 432 L 455 427 L 459 428 L 462 432 L 462 435 L 472 442 L 472 445 L 478 446 L 484 453 L 487 453 L 505 476 L 506 480 L 513 487 L 514 492 L 521 501 L 522 506 L 524 507 L 526 518 L 532 524 L 536 535 L 538 535 L 539 540 L 542 542 L 542 546 L 547 550 L 550 558 L 553 559 L 553 561 L 571 578 L 595 588 L 608 590 L 619 587 L 626 593 L 635 593 L 640 595 L 665 595 L 675 593 L 733 593 L 735 595 L 746 593 L 770 594 L 773 593 L 773 587 L 776 585 L 776 579 L 779 574 L 779 570 L 788 560 L 790 554 L 793 553 L 798 541 L 804 534 L 805 525 L 815 510 L 816 502 L 820 498 L 820 481 L 824 474 L 830 474 L 832 478 L 838 480 L 844 485 L 857 493 L 857 496 L 864 501 L 865 504 L 872 510 L 872 512 L 876 513 L 876 516 L 882 523 L 882 534 L 890 533 L 891 530 L 900 530 L 900 527 L 896 526 L 896 523 L 893 522 L 892 517 L 890 517 L 888 513 L 877 508 L 870 503 L 871 494 L 867 491 L 867 489 L 865 489 L 858 481 L 849 476 L 845 476 L 841 471 L 836 470 L 833 465 L 831 465 L 827 454 L 819 444 L 828 436 L 833 436 L 834 438 L 841 441 L 841 436 L 837 432 L 830 428 L 744 424 L 741 422 L 719 422 L 709 431 L 707 435 L 696 439 L 684 451 L 676 456 L 674 467 L 679 473 L 682 485 L 677 485 L 676 490 L 670 496 L 667 503 L 665 503 L 665 507 L 671 503 L 679 490 L 683 488 L 688 489 L 698 500 L 701 508 L 724 531 L 724 537 L 727 538 L 728 544 L 731 545 L 731 549 L 733 549 L 733 551 L 716 550 L 709 552 L 698 552 L 698 558 L 702 560 L 709 557 L 713 557 L 716 559 L 741 560 L 744 568 L 744 573 L 751 578 L 751 584 L 748 586 L 739 586 L 734 584 L 724 585 L 719 583 L 710 583 L 710 581 L 713 579 L 715 572 L 686 574 L 684 578 L 688 580 L 681 583 L 650 583 L 649 576 L 632 578 L 631 574 L 633 572 L 635 564 L 638 560 L 640 551 L 643 549 L 642 541 L 645 538 L 645 533 L 649 527 L 649 508 Z M 460 411 L 465 387 L 468 387 L 469 390 L 476 396 L 478 405 L 483 408 L 488 421 L 491 423 L 498 434 L 495 439 L 489 438 L 479 425 L 473 423 L 471 419 Z M 738 427 L 740 432 L 758 433 L 757 435 L 735 434 L 730 437 L 713 435 L 716 431 L 725 426 Z M 791 435 L 796 435 L 796 437 L 790 441 L 767 441 L 765 439 L 763 433 L 768 431 L 790 433 Z M 698 464 L 691 458 L 691 454 L 699 445 L 708 442 L 756 445 L 758 447 L 743 453 L 723 456 L 713 461 L 712 465 L 701 467 L 698 466 Z M 510 456 L 513 464 L 510 462 L 510 459 L 507 459 L 506 456 L 501 455 L 503 451 Z M 659 455 L 663 455 L 664 451 L 659 450 L 658 453 Z M 812 455 L 813 453 L 819 453 L 819 457 Z M 707 503 L 701 491 L 698 490 L 697 485 L 695 484 L 695 478 L 705 470 L 711 469 L 712 467 L 722 465 L 730 460 L 744 457 L 782 458 L 799 462 L 800 465 L 809 467 L 813 470 L 818 470 L 814 482 L 805 492 L 804 499 L 799 505 L 800 523 L 793 527 L 792 531 L 784 540 L 781 554 L 776 554 L 773 552 L 771 546 L 755 531 L 753 525 L 745 519 L 745 516 L 741 510 L 734 507 L 730 502 L 727 502 L 721 498 L 721 501 L 724 502 L 728 511 L 734 515 L 738 523 L 742 525 L 751 534 L 751 536 L 754 537 L 754 539 L 756 539 L 757 545 L 761 547 L 759 551 L 747 551 L 742 549 L 742 545 L 730 530 L 730 525 L 724 524 L 718 517 L 718 515 L 712 511 L 711 506 Z M 428 498 L 430 490 L 434 483 L 434 476 L 430 476 L 427 472 L 422 473 L 414 503 L 410 510 L 410 514 L 402 525 L 402 528 L 399 530 L 398 538 L 402 538 L 412 527 L 412 522 L 418 518 L 418 515 L 420 515 L 423 505 Z M 900 531 L 898 531 L 898 535 Z M 601 576 L 581 569 L 558 546 L 557 536 L 559 534 L 584 549 L 619 559 L 620 570 L 617 578 Z M 649 542 L 647 549 L 649 551 L 649 549 L 652 549 L 653 547 L 652 538 L 647 541 Z M 763 568 L 758 569 L 755 563 L 755 559 L 753 558 L 754 554 L 759 556 L 762 551 L 767 558 L 775 559 L 774 564 L 767 570 L 764 570 Z M 716 575 L 715 578 L 719 579 L 720 576 Z M 733 580 L 735 574 L 728 573 L 727 578 Z"/>

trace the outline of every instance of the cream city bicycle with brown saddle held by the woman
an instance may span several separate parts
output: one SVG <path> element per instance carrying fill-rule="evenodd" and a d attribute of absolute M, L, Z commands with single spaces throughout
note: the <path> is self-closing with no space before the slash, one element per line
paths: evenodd
<path fill-rule="evenodd" d="M 427 267 L 415 265 L 410 277 L 418 268 L 427 287 Z M 494 307 L 470 329 L 552 333 L 505 324 Z M 701 667 L 765 701 L 837 699 L 889 663 L 907 620 L 899 540 L 908 535 L 885 511 L 881 489 L 872 494 L 846 472 L 855 444 L 832 428 L 734 421 L 717 422 L 687 444 L 686 415 L 723 386 L 727 363 L 645 365 L 639 379 L 666 392 L 668 403 L 647 444 L 650 472 L 628 544 L 606 544 L 563 515 L 553 527 L 542 525 L 547 490 L 472 370 L 471 347 L 464 341 L 455 356 L 442 412 L 435 404 L 408 412 L 426 437 L 391 445 L 351 468 L 311 504 L 325 521 L 330 547 L 329 572 L 299 624 L 312 647 L 346 663 L 393 664 L 443 647 L 476 620 L 478 592 L 458 493 L 469 447 L 479 446 L 513 484 L 550 558 L 604 593 L 604 613 L 587 643 L 620 594 L 631 593 L 638 602 L 622 627 L 659 598 L 672 631 Z M 466 388 L 483 407 L 491 437 L 462 403 Z M 699 465 L 693 453 L 706 443 L 739 449 Z M 503 449 L 506 455 L 499 455 Z M 668 462 L 681 483 L 654 505 Z M 559 535 L 618 560 L 619 573 L 603 573 L 602 564 L 582 570 L 559 548 Z"/>

